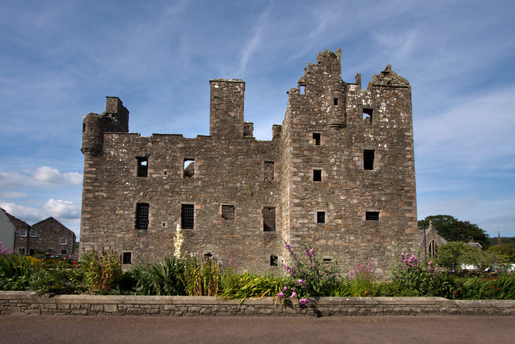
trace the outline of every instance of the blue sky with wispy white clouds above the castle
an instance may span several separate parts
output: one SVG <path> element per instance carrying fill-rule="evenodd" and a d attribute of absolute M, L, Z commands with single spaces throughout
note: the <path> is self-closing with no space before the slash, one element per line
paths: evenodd
<path fill-rule="evenodd" d="M 209 134 L 209 80 L 246 82 L 245 120 L 271 139 L 286 91 L 324 49 L 342 79 L 391 64 L 411 84 L 418 218 L 515 236 L 511 1 L 0 3 L 0 206 L 79 233 L 82 117 L 118 96 L 130 132 Z"/>

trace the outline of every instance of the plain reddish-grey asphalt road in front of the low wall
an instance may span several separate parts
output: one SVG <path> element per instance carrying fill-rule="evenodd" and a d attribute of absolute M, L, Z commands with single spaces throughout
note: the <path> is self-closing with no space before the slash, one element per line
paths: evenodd
<path fill-rule="evenodd" d="M 515 318 L 1 316 L 0 343 L 513 343 Z"/>

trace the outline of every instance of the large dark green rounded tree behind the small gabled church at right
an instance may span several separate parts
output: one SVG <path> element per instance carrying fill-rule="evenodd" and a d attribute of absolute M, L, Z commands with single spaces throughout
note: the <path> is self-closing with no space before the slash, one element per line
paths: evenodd
<path fill-rule="evenodd" d="M 429 220 L 433 221 L 436 232 L 447 241 L 479 242 L 483 249 L 490 246 L 490 238 L 477 224 L 469 221 L 460 221 L 450 215 L 428 216 L 418 221 L 419 230 L 429 227 Z"/>

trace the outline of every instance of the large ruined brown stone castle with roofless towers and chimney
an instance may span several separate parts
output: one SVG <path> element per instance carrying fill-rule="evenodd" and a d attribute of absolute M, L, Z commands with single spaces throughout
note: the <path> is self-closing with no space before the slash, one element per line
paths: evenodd
<path fill-rule="evenodd" d="M 398 242 L 416 240 L 411 87 L 389 65 L 362 89 L 359 74 L 341 79 L 339 49 L 319 53 L 270 141 L 244 120 L 242 80 L 210 87 L 210 135 L 128 133 L 117 97 L 84 117 L 82 252 L 169 257 L 180 223 L 185 250 L 240 270 L 281 266 L 288 242 L 384 275 Z"/>

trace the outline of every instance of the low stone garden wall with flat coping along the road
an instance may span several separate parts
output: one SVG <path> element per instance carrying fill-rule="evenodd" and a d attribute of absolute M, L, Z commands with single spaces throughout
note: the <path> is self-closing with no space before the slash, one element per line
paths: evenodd
<path fill-rule="evenodd" d="M 154 316 L 374 316 L 515 315 L 513 300 L 443 298 L 315 298 L 281 307 L 272 298 L 221 300 L 188 296 L 48 295 L 0 291 L 0 314 L 8 315 L 154 315 Z"/>

